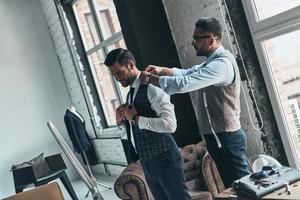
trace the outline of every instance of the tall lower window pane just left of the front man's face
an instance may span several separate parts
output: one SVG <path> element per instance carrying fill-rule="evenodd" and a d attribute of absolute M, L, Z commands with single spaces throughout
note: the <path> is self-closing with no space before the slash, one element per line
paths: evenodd
<path fill-rule="evenodd" d="M 103 51 L 99 50 L 88 58 L 108 126 L 114 126 L 116 125 L 115 110 L 120 105 L 120 101 L 110 71 L 104 65 Z"/>

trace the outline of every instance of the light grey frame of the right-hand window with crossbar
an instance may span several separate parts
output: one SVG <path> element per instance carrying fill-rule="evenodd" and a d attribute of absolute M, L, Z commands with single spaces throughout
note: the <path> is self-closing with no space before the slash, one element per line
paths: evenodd
<path fill-rule="evenodd" d="M 293 142 L 289 134 L 290 130 L 268 65 L 263 41 L 300 30 L 300 6 L 257 21 L 253 0 L 242 0 L 242 3 L 289 165 L 299 168 L 300 163 L 292 149 Z"/>

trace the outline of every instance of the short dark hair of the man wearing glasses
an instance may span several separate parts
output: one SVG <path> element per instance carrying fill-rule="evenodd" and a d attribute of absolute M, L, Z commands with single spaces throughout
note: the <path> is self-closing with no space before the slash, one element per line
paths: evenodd
<path fill-rule="evenodd" d="M 201 18 L 196 22 L 195 26 L 202 31 L 213 33 L 219 40 L 222 39 L 222 26 L 214 17 Z"/>

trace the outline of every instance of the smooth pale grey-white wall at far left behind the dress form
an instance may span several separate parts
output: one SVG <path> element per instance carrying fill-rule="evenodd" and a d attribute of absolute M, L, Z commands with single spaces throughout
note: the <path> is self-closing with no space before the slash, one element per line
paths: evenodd
<path fill-rule="evenodd" d="M 40 1 L 0 0 L 0 28 L 2 199 L 14 193 L 11 165 L 61 152 L 48 120 L 70 144 L 63 116 L 71 101 Z M 72 167 L 68 174 L 77 177 Z"/>

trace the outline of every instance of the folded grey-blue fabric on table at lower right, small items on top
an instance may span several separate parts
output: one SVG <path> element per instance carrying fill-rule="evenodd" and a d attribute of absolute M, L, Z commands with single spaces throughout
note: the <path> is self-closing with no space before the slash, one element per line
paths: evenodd
<path fill-rule="evenodd" d="M 271 173 L 266 178 L 253 179 L 253 177 L 255 176 L 250 174 L 235 181 L 233 188 L 243 196 L 260 198 L 285 187 L 286 184 L 300 180 L 300 171 L 290 167 L 281 167 L 276 169 L 276 173 Z"/>

